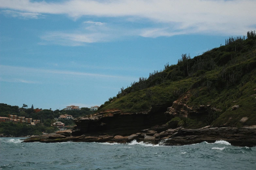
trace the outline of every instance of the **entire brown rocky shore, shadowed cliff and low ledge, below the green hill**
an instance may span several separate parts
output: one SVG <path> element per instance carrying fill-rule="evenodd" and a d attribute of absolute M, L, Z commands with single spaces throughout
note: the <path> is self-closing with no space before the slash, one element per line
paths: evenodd
<path fill-rule="evenodd" d="M 170 105 L 170 103 L 155 105 L 150 110 L 140 113 L 122 113 L 120 110 L 110 110 L 87 117 L 79 117 L 74 119 L 77 126 L 73 130 L 34 136 L 24 139 L 23 142 L 129 143 L 136 140 L 137 142 L 173 146 L 225 140 L 234 146 L 256 146 L 256 125 L 242 127 L 223 125 L 185 129 L 177 126 L 178 121 L 170 120 L 177 116 L 204 117 L 216 109 L 210 105 L 190 108 L 179 101 L 173 102 L 172 107 L 169 107 Z"/>

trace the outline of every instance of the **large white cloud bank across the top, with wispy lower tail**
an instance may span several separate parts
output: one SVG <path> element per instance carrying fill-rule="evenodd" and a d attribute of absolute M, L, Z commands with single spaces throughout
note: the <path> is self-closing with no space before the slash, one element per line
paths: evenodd
<path fill-rule="evenodd" d="M 74 20 L 82 16 L 126 17 L 148 21 L 151 28 L 119 27 L 114 31 L 97 29 L 94 32 L 52 33 L 62 39 L 58 44 L 74 46 L 84 43 L 110 41 L 123 36 L 173 36 L 179 34 L 243 35 L 256 29 L 255 0 L 67 0 L 60 2 L 30 0 L 0 0 L 0 8 L 36 14 L 66 14 Z M 106 27 L 105 22 L 85 21 L 91 26 Z M 109 24 L 108 24 L 109 25 Z M 94 27 L 91 27 L 94 28 Z M 128 35 L 124 32 L 128 30 Z M 123 33 L 121 33 L 123 32 Z M 133 34 L 131 34 L 133 32 Z M 45 35 L 47 39 L 47 35 Z M 50 38 L 51 37 L 51 38 Z"/>

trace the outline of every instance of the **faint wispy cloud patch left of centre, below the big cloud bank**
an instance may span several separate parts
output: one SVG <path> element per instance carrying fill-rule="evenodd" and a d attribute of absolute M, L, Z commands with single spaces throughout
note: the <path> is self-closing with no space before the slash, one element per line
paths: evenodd
<path fill-rule="evenodd" d="M 89 23 L 89 26 L 88 26 Z M 46 32 L 41 35 L 40 45 L 59 44 L 63 46 L 84 46 L 88 43 L 109 42 L 127 36 L 138 35 L 140 30 L 127 30 L 103 22 L 86 21 L 73 31 Z"/>

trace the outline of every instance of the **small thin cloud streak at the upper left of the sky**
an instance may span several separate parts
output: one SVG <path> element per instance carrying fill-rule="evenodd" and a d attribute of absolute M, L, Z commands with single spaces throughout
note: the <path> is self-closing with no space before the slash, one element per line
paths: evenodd
<path fill-rule="evenodd" d="M 5 15 L 10 15 L 11 17 L 18 17 L 22 19 L 40 19 L 45 18 L 45 15 L 39 14 L 39 13 L 30 13 L 30 12 L 17 12 L 17 11 L 11 11 L 11 10 L 2 10 L 1 13 L 4 13 Z"/>

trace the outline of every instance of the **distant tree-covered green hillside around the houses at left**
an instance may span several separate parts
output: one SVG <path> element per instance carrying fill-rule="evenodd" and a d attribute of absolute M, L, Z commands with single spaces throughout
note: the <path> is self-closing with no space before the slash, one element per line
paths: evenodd
<path fill-rule="evenodd" d="M 8 115 L 17 115 L 25 118 L 32 118 L 33 120 L 40 120 L 41 123 L 37 123 L 35 126 L 26 123 L 13 123 L 13 122 L 0 122 L 0 134 L 11 136 L 27 136 L 27 135 L 42 135 L 42 132 L 53 133 L 58 131 L 57 127 L 51 126 L 60 115 L 68 114 L 73 117 L 87 116 L 95 113 L 90 108 L 82 107 L 81 110 L 49 110 L 43 109 L 39 112 L 35 112 L 40 109 L 27 108 L 24 112 L 19 112 L 19 106 L 10 106 L 4 103 L 0 103 L 0 117 L 9 117 Z M 59 120 L 65 123 L 65 126 L 74 126 L 73 120 Z"/>

